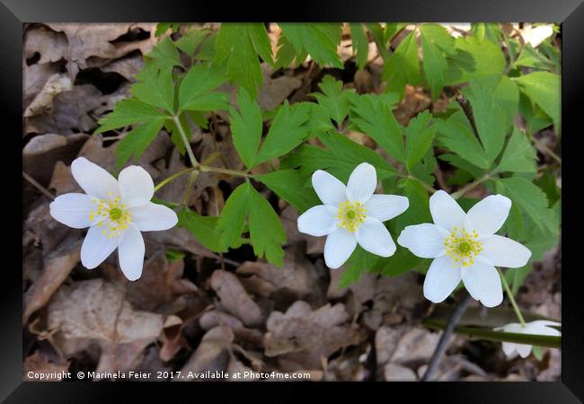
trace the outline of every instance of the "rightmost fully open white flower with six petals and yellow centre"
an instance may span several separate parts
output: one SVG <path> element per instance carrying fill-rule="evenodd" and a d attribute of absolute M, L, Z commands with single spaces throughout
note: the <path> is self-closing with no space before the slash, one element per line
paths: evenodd
<path fill-rule="evenodd" d="M 522 244 L 495 234 L 509 215 L 511 200 L 491 195 L 468 213 L 438 190 L 429 198 L 434 224 L 415 224 L 403 229 L 397 242 L 414 255 L 434 259 L 424 280 L 424 296 L 440 303 L 463 281 L 474 300 L 487 307 L 503 301 L 499 272 L 495 268 L 520 268 L 531 251 Z"/>

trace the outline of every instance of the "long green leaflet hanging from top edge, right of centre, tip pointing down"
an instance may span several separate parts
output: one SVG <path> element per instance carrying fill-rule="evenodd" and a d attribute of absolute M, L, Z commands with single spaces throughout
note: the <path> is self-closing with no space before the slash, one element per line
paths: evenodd
<path fill-rule="evenodd" d="M 445 73 L 447 72 L 448 54 L 455 53 L 455 40 L 446 28 L 438 24 L 422 24 L 420 27 L 421 50 L 424 66 L 424 75 L 432 92 L 432 98 L 437 99 L 444 87 Z"/>

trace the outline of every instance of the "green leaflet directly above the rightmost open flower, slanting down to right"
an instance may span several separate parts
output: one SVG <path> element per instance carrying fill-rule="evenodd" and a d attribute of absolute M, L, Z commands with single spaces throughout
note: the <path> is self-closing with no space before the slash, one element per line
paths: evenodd
<path fill-rule="evenodd" d="M 489 160 L 462 111 L 438 122 L 438 141 L 477 167 L 489 168 Z"/>

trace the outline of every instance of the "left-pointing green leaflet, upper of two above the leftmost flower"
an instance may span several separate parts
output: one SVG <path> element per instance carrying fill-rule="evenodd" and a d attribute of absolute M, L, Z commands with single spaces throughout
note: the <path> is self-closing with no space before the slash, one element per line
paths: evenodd
<path fill-rule="evenodd" d="M 127 127 L 142 122 L 166 118 L 155 107 L 138 100 L 121 100 L 116 102 L 115 108 L 107 116 L 99 120 L 100 127 L 95 134 L 107 132 L 118 127 Z"/>

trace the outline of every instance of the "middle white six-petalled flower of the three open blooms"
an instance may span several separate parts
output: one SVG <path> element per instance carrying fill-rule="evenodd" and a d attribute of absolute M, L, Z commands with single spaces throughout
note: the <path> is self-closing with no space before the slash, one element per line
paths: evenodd
<path fill-rule="evenodd" d="M 323 205 L 298 217 L 298 231 L 327 236 L 324 262 L 328 268 L 340 268 L 357 244 L 381 257 L 394 255 L 395 243 L 383 222 L 401 215 L 409 206 L 408 198 L 374 195 L 377 174 L 371 164 L 359 164 L 346 186 L 326 171 L 314 171 L 313 187 Z"/>

